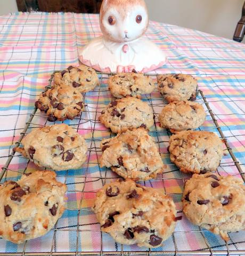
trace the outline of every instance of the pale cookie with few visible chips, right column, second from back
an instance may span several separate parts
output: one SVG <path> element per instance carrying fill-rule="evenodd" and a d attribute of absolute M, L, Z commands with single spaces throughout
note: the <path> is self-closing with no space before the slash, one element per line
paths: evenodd
<path fill-rule="evenodd" d="M 205 121 L 206 113 L 201 104 L 189 101 L 171 102 L 159 114 L 161 127 L 171 133 L 197 129 Z"/>

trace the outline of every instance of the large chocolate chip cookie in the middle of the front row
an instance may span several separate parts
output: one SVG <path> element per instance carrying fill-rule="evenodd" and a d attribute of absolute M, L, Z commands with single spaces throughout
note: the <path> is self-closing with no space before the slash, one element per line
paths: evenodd
<path fill-rule="evenodd" d="M 121 244 L 158 247 L 175 229 L 173 199 L 132 180 L 104 185 L 96 193 L 94 212 L 101 230 Z"/>

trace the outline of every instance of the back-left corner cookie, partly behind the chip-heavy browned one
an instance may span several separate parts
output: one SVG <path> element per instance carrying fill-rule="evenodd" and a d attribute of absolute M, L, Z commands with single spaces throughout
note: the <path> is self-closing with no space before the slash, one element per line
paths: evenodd
<path fill-rule="evenodd" d="M 99 86 L 99 77 L 92 67 L 80 65 L 78 67 L 69 66 L 61 72 L 55 73 L 54 84 L 76 88 L 79 92 L 92 91 Z"/>

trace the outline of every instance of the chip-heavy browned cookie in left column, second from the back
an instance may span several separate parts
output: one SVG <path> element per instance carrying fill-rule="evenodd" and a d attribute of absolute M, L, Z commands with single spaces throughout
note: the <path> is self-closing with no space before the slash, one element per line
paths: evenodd
<path fill-rule="evenodd" d="M 74 119 L 84 110 L 83 100 L 78 90 L 63 84 L 40 94 L 35 106 L 47 114 L 48 121 L 63 121 Z"/>

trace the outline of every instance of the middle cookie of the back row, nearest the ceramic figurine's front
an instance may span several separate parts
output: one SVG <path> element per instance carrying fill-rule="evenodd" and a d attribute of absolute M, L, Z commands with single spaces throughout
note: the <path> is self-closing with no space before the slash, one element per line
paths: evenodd
<path fill-rule="evenodd" d="M 112 96 L 116 98 L 141 98 L 142 94 L 150 94 L 155 88 L 150 76 L 142 73 L 119 73 L 111 76 L 108 84 Z"/>

